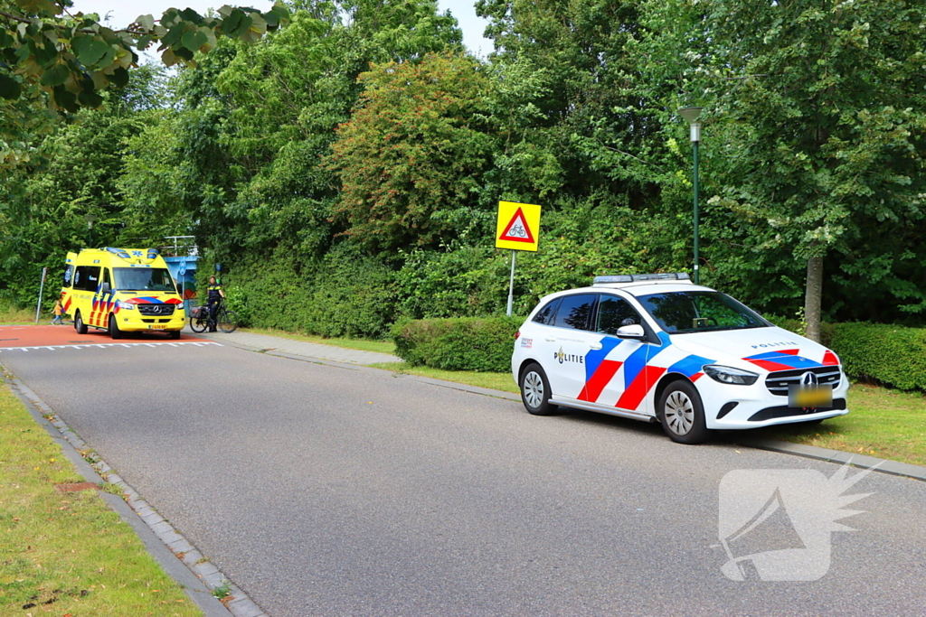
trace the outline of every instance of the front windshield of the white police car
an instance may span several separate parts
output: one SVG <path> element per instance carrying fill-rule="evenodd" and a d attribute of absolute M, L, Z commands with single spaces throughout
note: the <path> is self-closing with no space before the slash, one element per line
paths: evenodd
<path fill-rule="evenodd" d="M 669 334 L 768 327 L 769 322 L 720 291 L 673 291 L 637 298 Z"/>

